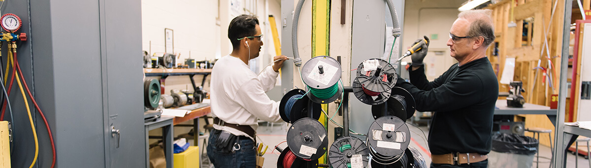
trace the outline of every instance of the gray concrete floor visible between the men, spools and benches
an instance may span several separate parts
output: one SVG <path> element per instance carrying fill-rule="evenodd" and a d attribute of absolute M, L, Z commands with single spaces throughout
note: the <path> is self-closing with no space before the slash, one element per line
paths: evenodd
<path fill-rule="evenodd" d="M 408 124 L 408 122 L 407 122 Z M 410 124 L 409 128 L 411 131 L 411 143 L 410 146 L 413 146 L 415 148 L 417 148 L 418 151 L 420 151 L 421 155 L 424 157 L 424 160 L 426 162 L 427 167 L 431 164 L 431 158 L 430 158 L 430 154 L 427 153 L 427 143 L 426 143 L 426 138 L 424 138 L 423 133 L 421 132 L 424 131 L 424 134 L 428 136 L 428 130 L 426 126 L 421 126 L 421 127 L 414 127 L 411 126 Z M 269 124 L 269 126 L 267 126 L 267 122 L 261 122 L 259 123 L 259 128 L 258 130 L 256 130 L 256 133 L 258 134 L 258 139 L 257 141 L 261 142 L 268 147 L 267 152 L 265 153 L 264 157 L 265 157 L 265 161 L 264 161 L 264 167 L 277 167 L 277 159 L 279 157 L 279 152 L 277 150 L 274 150 L 273 147 L 276 146 L 277 144 L 280 144 L 279 147 L 281 148 L 285 148 L 287 147 L 286 143 L 282 143 L 283 141 L 286 140 L 286 134 L 287 134 L 287 124 L 286 123 L 275 123 L 273 124 L 273 127 L 271 127 L 271 124 Z M 200 145 L 203 144 L 203 141 L 200 142 Z M 329 144 L 330 146 L 330 144 Z M 580 146 L 579 148 L 585 148 L 585 146 Z M 202 167 L 213 167 L 210 166 L 208 161 L 207 161 L 207 154 L 206 151 L 204 151 L 203 154 L 203 165 Z M 532 167 L 549 167 L 550 166 L 550 160 L 548 160 L 547 158 L 551 157 L 551 152 L 550 152 L 550 148 L 546 147 L 546 146 L 540 146 L 540 165 L 538 166 L 537 163 L 535 162 L 535 157 L 534 157 L 534 163 L 532 164 Z M 579 165 L 578 167 L 589 167 L 589 160 L 585 159 L 583 156 L 577 156 L 578 160 L 579 160 Z M 567 154 L 567 167 L 575 167 L 575 156 L 574 154 L 568 153 Z M 590 167 L 591 168 L 591 167 Z"/>

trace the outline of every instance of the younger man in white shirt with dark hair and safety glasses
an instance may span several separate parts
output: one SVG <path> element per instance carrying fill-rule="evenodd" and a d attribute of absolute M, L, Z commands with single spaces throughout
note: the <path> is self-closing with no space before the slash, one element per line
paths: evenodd
<path fill-rule="evenodd" d="M 279 102 L 265 94 L 275 86 L 286 56 L 260 75 L 249 68 L 259 56 L 262 33 L 253 15 L 240 15 L 228 27 L 233 51 L 217 60 L 212 70 L 210 99 L 214 117 L 207 144 L 207 156 L 215 167 L 255 167 L 258 119 L 278 122 Z"/>

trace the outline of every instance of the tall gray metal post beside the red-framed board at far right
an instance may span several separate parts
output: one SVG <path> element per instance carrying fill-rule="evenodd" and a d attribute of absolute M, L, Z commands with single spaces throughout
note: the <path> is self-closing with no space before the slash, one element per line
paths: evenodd
<path fill-rule="evenodd" d="M 573 1 L 564 1 L 564 23 L 562 36 L 562 54 L 560 55 L 560 93 L 558 94 L 558 112 L 556 114 L 556 130 L 554 130 L 554 167 L 566 166 L 566 145 L 564 144 L 564 115 L 566 114 L 566 78 L 569 68 L 569 39 L 570 39 L 570 17 L 573 8 Z M 560 158 L 560 159 L 558 159 Z M 559 166 L 560 165 L 560 166 Z"/>

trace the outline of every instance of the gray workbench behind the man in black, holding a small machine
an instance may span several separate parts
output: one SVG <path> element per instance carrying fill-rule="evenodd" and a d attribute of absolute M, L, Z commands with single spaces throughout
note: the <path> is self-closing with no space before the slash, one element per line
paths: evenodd
<path fill-rule="evenodd" d="M 550 109 L 549 106 L 528 103 L 525 103 L 523 108 L 508 107 L 505 99 L 498 99 L 495 104 L 495 115 L 542 114 L 550 119 L 554 127 L 556 127 L 556 112 L 557 109 Z"/>

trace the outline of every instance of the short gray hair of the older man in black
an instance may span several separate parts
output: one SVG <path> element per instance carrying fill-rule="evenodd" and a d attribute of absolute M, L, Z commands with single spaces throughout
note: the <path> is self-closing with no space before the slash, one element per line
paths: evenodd
<path fill-rule="evenodd" d="M 460 12 L 457 17 L 470 22 L 468 36 L 483 37 L 483 44 L 488 47 L 495 41 L 495 26 L 492 24 L 491 14 L 491 9 L 475 9 Z"/>

